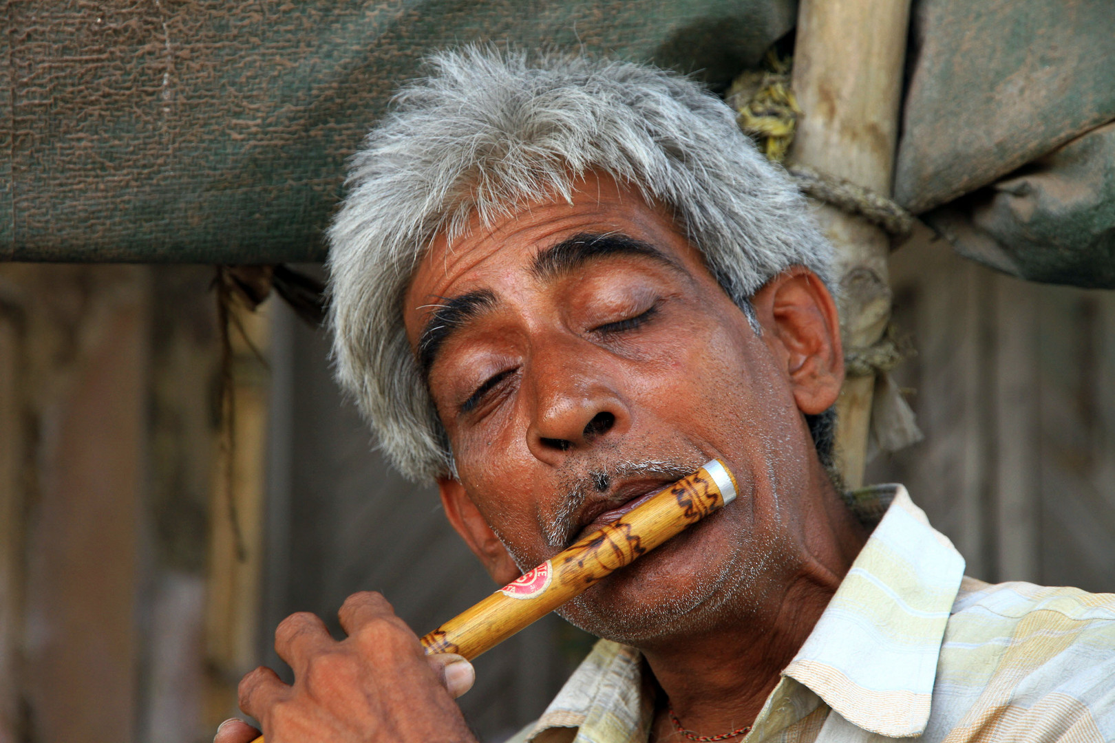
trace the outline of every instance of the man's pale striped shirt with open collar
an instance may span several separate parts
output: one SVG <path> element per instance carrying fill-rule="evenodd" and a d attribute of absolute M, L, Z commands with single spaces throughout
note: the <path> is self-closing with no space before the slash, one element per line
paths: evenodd
<path fill-rule="evenodd" d="M 964 577 L 901 486 L 752 732 L 734 743 L 1115 741 L 1115 595 Z M 512 743 L 643 743 L 639 652 L 600 641 Z"/>

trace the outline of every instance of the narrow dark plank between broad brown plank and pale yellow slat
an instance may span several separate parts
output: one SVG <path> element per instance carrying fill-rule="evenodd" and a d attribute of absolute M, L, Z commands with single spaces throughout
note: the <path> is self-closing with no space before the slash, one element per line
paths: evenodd
<path fill-rule="evenodd" d="M 212 267 L 155 266 L 153 282 L 146 497 L 153 568 L 140 588 L 145 653 L 137 671 L 137 739 L 195 743 L 212 740 L 205 705 L 221 668 L 205 654 L 220 330 Z M 223 707 L 230 706 L 225 698 Z"/>

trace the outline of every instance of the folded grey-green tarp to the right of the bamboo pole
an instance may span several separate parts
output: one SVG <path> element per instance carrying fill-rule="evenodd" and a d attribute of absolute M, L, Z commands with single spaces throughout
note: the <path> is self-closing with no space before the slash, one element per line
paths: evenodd
<path fill-rule="evenodd" d="M 922 0 L 910 59 L 895 199 L 992 267 L 1115 287 L 1111 1 Z"/>

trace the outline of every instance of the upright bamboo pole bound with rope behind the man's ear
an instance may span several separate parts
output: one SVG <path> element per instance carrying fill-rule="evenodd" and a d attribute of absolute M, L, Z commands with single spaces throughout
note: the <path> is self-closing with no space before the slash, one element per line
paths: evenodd
<path fill-rule="evenodd" d="M 804 111 L 791 159 L 891 194 L 910 0 L 802 0 L 793 86 Z M 890 239 L 879 227 L 822 205 L 836 247 L 845 349 L 880 340 L 891 314 Z M 836 402 L 836 457 L 849 487 L 863 483 L 874 377 L 845 380 Z"/>

